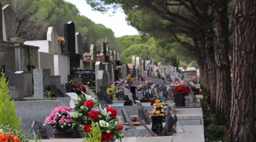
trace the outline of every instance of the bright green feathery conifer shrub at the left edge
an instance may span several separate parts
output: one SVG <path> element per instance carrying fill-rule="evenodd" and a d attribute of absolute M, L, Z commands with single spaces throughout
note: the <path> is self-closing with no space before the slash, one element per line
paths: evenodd
<path fill-rule="evenodd" d="M 14 100 L 10 101 L 9 87 L 5 73 L 0 77 L 0 124 L 21 131 L 21 119 L 17 117 Z M 4 129 L 3 129 L 4 130 Z"/>

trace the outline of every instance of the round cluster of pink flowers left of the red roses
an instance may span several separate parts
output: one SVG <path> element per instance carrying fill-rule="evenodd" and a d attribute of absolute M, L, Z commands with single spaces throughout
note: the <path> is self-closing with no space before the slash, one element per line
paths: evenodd
<path fill-rule="evenodd" d="M 45 120 L 45 125 L 50 125 L 55 129 L 55 132 L 66 132 L 73 125 L 70 113 L 73 110 L 70 107 L 56 107 Z"/>

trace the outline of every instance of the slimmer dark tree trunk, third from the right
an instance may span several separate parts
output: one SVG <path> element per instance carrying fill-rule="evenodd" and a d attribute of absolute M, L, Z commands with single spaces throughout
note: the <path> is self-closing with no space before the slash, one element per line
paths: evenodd
<path fill-rule="evenodd" d="M 215 67 L 215 55 L 214 55 L 214 43 L 213 39 L 215 37 L 214 30 L 212 28 L 212 23 L 206 23 L 206 63 L 207 63 L 207 72 L 208 72 L 208 82 L 210 89 L 210 109 L 215 112 L 216 104 L 216 67 Z"/>

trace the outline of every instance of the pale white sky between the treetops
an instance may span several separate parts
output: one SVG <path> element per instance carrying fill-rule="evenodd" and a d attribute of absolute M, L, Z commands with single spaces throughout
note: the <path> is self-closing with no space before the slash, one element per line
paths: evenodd
<path fill-rule="evenodd" d="M 85 0 L 64 0 L 74 4 L 80 11 L 80 15 L 91 19 L 96 24 L 103 24 L 105 27 L 112 29 L 115 37 L 122 37 L 123 35 L 136 35 L 138 31 L 127 24 L 125 20 L 126 15 L 122 11 L 117 11 L 113 16 L 109 14 L 102 14 L 98 11 L 92 11 L 91 6 L 86 4 Z"/>

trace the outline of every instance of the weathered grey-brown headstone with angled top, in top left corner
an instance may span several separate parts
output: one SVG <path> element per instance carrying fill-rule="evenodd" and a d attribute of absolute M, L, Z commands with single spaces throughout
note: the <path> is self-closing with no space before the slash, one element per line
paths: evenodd
<path fill-rule="evenodd" d="M 2 7 L 2 34 L 5 41 L 16 35 L 16 14 L 9 4 Z"/>

